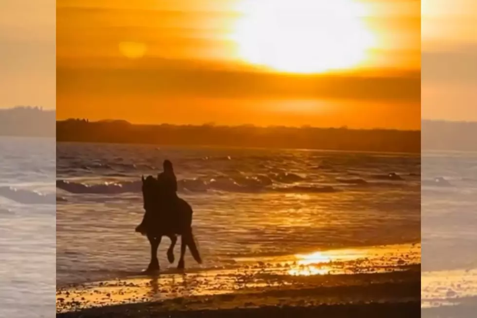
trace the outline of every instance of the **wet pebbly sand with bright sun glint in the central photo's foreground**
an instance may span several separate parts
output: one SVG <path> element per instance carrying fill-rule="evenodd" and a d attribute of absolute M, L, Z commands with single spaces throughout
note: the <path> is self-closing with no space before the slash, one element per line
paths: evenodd
<path fill-rule="evenodd" d="M 232 269 L 64 286 L 57 317 L 420 317 L 420 248 L 243 259 Z"/>

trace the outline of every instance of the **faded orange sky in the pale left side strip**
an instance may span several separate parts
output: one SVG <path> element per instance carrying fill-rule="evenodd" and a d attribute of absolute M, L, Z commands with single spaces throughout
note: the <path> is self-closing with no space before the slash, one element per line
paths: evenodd
<path fill-rule="evenodd" d="M 0 108 L 55 98 L 55 0 L 1 0 Z"/>

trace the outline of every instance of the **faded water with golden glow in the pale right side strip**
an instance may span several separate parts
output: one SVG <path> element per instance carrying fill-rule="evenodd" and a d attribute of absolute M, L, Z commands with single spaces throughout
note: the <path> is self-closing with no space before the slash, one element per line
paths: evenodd
<path fill-rule="evenodd" d="M 477 152 L 422 152 L 422 305 L 477 304 Z M 465 312 L 465 311 L 468 312 Z M 445 315 L 444 315 L 445 316 Z"/>

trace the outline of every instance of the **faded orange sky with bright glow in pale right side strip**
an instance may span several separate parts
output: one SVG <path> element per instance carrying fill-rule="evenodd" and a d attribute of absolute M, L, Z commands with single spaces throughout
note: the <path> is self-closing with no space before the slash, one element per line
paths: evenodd
<path fill-rule="evenodd" d="M 422 117 L 477 121 L 477 1 L 422 1 Z"/>

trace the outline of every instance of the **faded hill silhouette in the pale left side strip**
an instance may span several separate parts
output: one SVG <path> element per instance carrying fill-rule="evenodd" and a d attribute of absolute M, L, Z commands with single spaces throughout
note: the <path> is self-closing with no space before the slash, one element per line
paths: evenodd
<path fill-rule="evenodd" d="M 56 112 L 41 107 L 0 108 L 0 136 L 55 137 Z"/>

